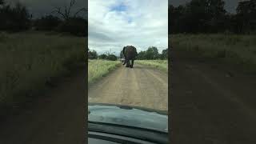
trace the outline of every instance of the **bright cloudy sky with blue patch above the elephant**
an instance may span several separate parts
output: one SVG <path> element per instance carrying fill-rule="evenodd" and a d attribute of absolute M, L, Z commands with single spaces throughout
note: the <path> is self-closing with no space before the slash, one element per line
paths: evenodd
<path fill-rule="evenodd" d="M 89 0 L 88 6 L 88 46 L 98 54 L 168 47 L 168 0 Z"/>

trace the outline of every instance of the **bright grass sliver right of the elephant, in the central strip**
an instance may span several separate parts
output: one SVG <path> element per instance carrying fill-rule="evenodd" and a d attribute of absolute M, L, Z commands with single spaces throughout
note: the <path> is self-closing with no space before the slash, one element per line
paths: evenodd
<path fill-rule="evenodd" d="M 138 64 L 154 67 L 158 70 L 168 72 L 168 60 L 136 60 Z"/>

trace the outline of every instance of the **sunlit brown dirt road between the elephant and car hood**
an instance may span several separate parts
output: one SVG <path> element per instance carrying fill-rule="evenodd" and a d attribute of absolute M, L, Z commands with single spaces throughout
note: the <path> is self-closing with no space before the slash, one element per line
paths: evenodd
<path fill-rule="evenodd" d="M 135 61 L 133 69 L 122 66 L 90 86 L 88 101 L 167 110 L 168 75 Z"/>

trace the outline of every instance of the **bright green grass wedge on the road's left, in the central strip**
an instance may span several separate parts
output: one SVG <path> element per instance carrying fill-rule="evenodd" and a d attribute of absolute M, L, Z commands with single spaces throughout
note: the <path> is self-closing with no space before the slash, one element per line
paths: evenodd
<path fill-rule="evenodd" d="M 119 61 L 88 60 L 88 83 L 91 84 L 99 78 L 106 76 L 106 74 L 118 66 L 121 66 Z"/>

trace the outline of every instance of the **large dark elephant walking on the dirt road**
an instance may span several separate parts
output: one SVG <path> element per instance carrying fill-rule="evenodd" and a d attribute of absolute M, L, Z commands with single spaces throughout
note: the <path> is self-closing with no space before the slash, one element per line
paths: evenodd
<path fill-rule="evenodd" d="M 126 64 L 126 67 L 133 68 L 134 67 L 134 60 L 137 56 L 137 50 L 134 46 L 125 46 L 122 49 L 122 54 L 125 58 L 125 61 L 122 65 Z M 131 63 L 130 63 L 131 60 Z"/>

